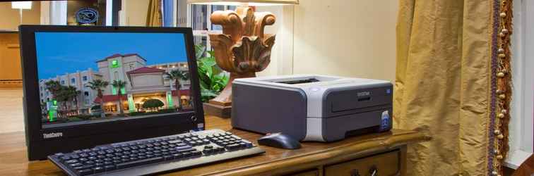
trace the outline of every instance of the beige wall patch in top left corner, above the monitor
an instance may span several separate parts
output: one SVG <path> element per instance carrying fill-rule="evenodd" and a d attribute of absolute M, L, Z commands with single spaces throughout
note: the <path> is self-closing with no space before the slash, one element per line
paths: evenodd
<path fill-rule="evenodd" d="M 32 9 L 23 10 L 23 24 L 39 25 L 41 4 L 32 3 Z M 18 9 L 11 8 L 11 2 L 0 2 L 0 30 L 15 30 L 20 25 Z"/>

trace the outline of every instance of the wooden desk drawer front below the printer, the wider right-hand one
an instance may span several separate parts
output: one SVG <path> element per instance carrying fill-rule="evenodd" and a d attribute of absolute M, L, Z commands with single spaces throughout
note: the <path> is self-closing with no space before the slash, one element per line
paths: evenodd
<path fill-rule="evenodd" d="M 328 165 L 324 168 L 325 176 L 368 176 L 376 169 L 376 175 L 400 175 L 401 151 L 376 154 L 345 163 Z"/>

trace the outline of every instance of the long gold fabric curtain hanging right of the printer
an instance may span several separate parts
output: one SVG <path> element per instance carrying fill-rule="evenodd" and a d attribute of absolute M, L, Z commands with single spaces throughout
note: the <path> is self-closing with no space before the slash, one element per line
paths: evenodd
<path fill-rule="evenodd" d="M 492 65 L 501 1 L 400 0 L 393 124 L 433 138 L 409 147 L 408 175 L 500 173 L 493 151 L 507 143 L 494 143 Z"/>

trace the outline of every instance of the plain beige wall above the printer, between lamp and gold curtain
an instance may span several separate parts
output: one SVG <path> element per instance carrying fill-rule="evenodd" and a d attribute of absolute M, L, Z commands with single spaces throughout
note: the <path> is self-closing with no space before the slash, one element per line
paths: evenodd
<path fill-rule="evenodd" d="M 395 79 L 398 1 L 301 0 L 293 73 Z"/>

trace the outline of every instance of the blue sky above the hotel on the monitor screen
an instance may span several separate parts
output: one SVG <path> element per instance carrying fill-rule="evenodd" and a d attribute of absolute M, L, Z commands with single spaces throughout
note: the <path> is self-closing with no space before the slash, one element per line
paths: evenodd
<path fill-rule="evenodd" d="M 147 65 L 187 61 L 184 34 L 35 32 L 39 79 L 93 68 L 113 54 L 139 54 Z"/>

